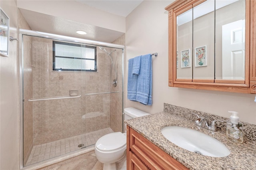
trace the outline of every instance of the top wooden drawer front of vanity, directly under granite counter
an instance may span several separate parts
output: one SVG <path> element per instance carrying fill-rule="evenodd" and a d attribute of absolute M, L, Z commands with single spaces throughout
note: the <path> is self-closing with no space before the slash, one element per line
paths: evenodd
<path fill-rule="evenodd" d="M 152 170 L 188 170 L 172 156 L 129 128 L 130 150 Z"/>

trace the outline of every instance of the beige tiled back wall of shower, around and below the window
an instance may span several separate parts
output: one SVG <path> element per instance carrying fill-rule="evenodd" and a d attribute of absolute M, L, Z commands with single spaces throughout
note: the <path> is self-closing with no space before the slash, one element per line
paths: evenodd
<path fill-rule="evenodd" d="M 97 49 L 97 73 L 65 72 L 52 71 L 52 40 L 33 37 L 32 46 L 33 98 L 69 96 L 74 89 L 82 95 L 33 102 L 34 145 L 109 127 L 110 95 L 85 95 L 110 91 L 110 60 L 104 51 Z"/>

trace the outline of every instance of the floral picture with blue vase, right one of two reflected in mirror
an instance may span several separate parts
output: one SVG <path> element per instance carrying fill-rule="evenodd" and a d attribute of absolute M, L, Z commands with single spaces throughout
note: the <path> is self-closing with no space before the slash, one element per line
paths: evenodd
<path fill-rule="evenodd" d="M 195 67 L 207 66 L 206 45 L 195 48 Z"/>

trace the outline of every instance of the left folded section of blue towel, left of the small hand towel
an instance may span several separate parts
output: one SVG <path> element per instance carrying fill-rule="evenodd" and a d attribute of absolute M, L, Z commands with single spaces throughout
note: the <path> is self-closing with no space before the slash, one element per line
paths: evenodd
<path fill-rule="evenodd" d="M 134 60 L 133 58 L 129 59 L 129 64 L 128 64 L 127 98 L 129 100 L 136 101 L 138 76 L 135 74 L 132 74 L 133 60 Z"/>

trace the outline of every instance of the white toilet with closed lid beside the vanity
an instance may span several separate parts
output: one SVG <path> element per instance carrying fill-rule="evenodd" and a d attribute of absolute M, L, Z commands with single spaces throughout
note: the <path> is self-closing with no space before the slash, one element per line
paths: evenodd
<path fill-rule="evenodd" d="M 149 115 L 144 111 L 128 107 L 124 109 L 124 120 Z M 97 159 L 103 170 L 126 170 L 126 132 L 113 132 L 99 138 L 95 144 Z M 125 168 L 121 168 L 124 164 Z"/>

